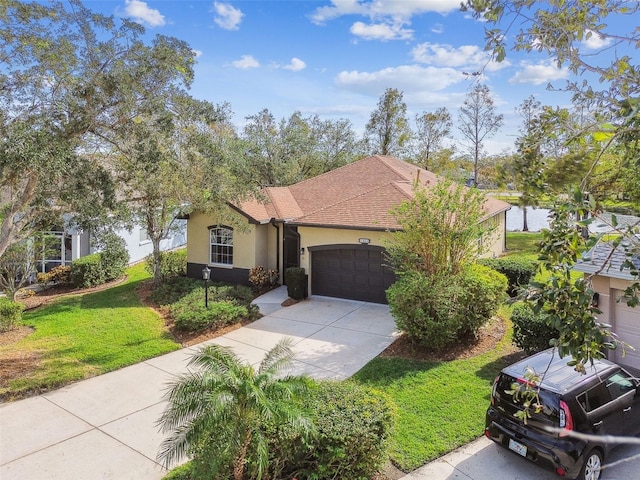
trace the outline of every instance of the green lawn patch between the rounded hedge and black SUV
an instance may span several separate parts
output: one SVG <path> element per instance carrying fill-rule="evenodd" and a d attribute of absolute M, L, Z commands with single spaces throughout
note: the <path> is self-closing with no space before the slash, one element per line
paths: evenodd
<path fill-rule="evenodd" d="M 509 357 L 511 330 L 482 355 L 451 362 L 378 357 L 354 379 L 395 401 L 398 422 L 391 445 L 393 462 L 405 472 L 478 438 L 491 386 Z"/>

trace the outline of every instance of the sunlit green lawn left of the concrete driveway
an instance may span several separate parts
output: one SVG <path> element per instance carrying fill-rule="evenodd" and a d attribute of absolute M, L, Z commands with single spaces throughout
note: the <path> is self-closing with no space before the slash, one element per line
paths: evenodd
<path fill-rule="evenodd" d="M 107 290 L 62 297 L 25 312 L 23 323 L 34 333 L 0 348 L 0 356 L 21 352 L 39 355 L 41 361 L 35 371 L 0 388 L 0 397 L 60 387 L 180 348 L 135 292 L 149 278 L 144 265 L 127 274 L 124 283 Z"/>

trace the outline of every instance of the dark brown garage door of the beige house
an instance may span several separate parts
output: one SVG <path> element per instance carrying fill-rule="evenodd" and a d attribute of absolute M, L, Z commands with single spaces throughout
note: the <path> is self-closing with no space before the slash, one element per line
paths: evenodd
<path fill-rule="evenodd" d="M 311 293 L 387 303 L 385 290 L 395 281 L 381 247 L 340 245 L 312 247 Z"/>

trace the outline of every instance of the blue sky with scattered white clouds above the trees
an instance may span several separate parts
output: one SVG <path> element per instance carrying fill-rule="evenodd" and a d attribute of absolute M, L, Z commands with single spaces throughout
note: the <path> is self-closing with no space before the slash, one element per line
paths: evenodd
<path fill-rule="evenodd" d="M 521 124 L 515 108 L 529 95 L 568 106 L 547 91 L 571 79 L 544 55 L 509 52 L 491 62 L 485 24 L 459 11 L 460 0 L 85 0 L 94 11 L 130 17 L 149 35 L 187 41 L 197 52 L 191 94 L 229 102 L 242 127 L 247 115 L 268 108 L 277 119 L 300 111 L 346 118 L 358 133 L 386 88 L 404 94 L 409 116 L 458 110 L 473 86 L 465 72 L 484 67 L 501 131 L 489 153 L 511 148 Z M 597 35 L 585 51 L 606 47 Z M 455 128 L 454 128 L 455 130 Z M 455 133 L 455 132 L 454 132 Z"/>

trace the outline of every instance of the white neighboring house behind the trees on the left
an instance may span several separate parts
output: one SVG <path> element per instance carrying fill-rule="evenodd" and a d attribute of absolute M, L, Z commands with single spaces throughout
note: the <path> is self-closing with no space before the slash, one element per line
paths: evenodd
<path fill-rule="evenodd" d="M 38 272 L 48 272 L 58 265 L 70 265 L 77 258 L 98 251 L 88 232 L 75 229 L 44 232 L 48 247 L 38 259 Z M 131 231 L 120 229 L 116 234 L 121 237 L 129 252 L 129 262 L 136 263 L 153 252 L 153 245 L 145 228 L 134 226 Z M 170 238 L 160 242 L 161 250 L 171 250 L 187 244 L 187 221 L 176 220 L 176 231 Z"/>

